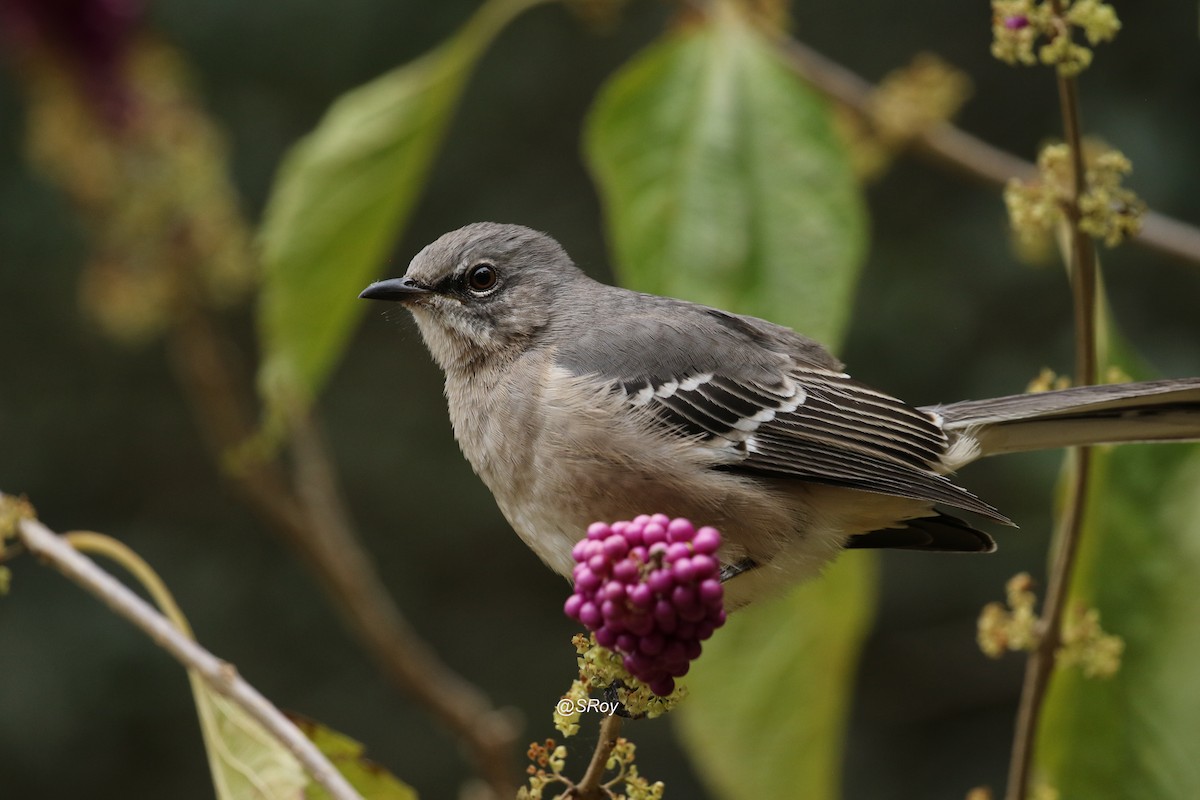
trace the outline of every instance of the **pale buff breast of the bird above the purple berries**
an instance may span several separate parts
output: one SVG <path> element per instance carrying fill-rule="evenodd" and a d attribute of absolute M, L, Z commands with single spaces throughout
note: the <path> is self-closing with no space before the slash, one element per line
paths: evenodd
<path fill-rule="evenodd" d="M 661 512 L 731 524 L 762 513 L 746 509 L 758 498 L 745 480 L 707 469 L 709 449 L 665 434 L 647 409 L 588 375 L 527 363 L 446 390 L 467 459 L 517 534 L 563 575 L 596 521 Z"/>

